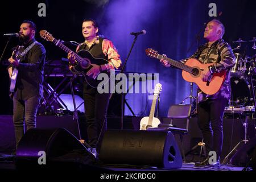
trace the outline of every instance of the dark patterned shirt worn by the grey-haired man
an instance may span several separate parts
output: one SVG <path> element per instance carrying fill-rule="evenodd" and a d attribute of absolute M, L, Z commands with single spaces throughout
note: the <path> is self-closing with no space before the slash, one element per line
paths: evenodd
<path fill-rule="evenodd" d="M 196 58 L 201 63 L 215 63 L 214 70 L 215 72 L 221 72 L 226 70 L 226 78 L 220 88 L 220 90 L 213 94 L 208 95 L 203 93 L 199 89 L 199 102 L 205 101 L 208 98 L 216 99 L 216 98 L 226 98 L 229 100 L 230 98 L 230 69 L 235 64 L 235 56 L 232 52 L 232 48 L 229 46 L 228 43 L 225 43 L 223 39 L 217 40 L 211 46 L 208 46 L 208 43 L 204 44 L 203 46 L 199 47 L 195 54 L 193 54 L 190 58 Z M 183 63 L 188 59 L 181 60 Z M 216 64 L 218 63 L 218 66 Z"/>

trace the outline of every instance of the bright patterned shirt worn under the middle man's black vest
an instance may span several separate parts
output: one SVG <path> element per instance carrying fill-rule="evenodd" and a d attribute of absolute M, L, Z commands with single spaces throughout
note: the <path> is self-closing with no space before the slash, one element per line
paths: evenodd
<path fill-rule="evenodd" d="M 79 47 L 82 44 L 86 44 L 88 47 L 90 47 L 87 40 L 85 40 L 84 43 L 79 44 L 76 51 L 79 49 Z M 99 36 L 96 36 L 96 39 L 94 40 L 93 44 L 100 44 Z M 110 40 L 103 39 L 102 52 L 104 53 L 105 56 L 108 56 L 109 63 L 105 64 L 108 71 L 110 71 L 110 69 L 114 69 L 114 68 L 117 69 L 120 67 L 122 63 L 120 60 L 120 56 L 118 54 L 117 49 L 114 47 L 113 43 Z"/>

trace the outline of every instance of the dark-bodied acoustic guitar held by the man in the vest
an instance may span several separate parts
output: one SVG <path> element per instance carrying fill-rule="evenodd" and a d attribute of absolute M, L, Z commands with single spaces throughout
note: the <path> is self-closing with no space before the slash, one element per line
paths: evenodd
<path fill-rule="evenodd" d="M 55 46 L 63 49 L 63 51 L 67 53 L 73 52 L 71 49 L 69 49 L 67 46 L 61 43 L 60 40 L 53 38 L 53 36 L 46 30 L 41 30 L 40 36 L 43 39 L 52 42 L 53 44 L 55 44 Z M 90 68 L 94 67 L 94 65 L 108 64 L 109 62 L 105 59 L 93 57 L 92 54 L 86 50 L 73 52 L 73 55 L 75 55 L 76 57 L 76 65 L 72 68 L 72 72 L 76 74 L 84 75 L 88 84 L 93 88 L 97 88 L 99 81 L 93 79 L 90 76 L 86 76 L 86 72 L 88 72 Z M 106 71 L 104 73 L 109 75 L 109 73 L 107 73 Z M 104 82 L 104 85 L 105 85 L 105 83 L 108 82 L 108 80 L 104 80 L 104 81 L 105 81 Z"/>

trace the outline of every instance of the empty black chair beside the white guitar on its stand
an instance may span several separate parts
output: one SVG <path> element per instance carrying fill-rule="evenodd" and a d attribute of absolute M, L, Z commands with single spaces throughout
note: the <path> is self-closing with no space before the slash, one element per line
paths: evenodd
<path fill-rule="evenodd" d="M 171 105 L 168 110 L 168 118 L 171 118 L 170 123 L 168 123 L 168 124 L 160 123 L 157 128 L 148 128 L 148 130 L 158 130 L 158 131 L 168 130 L 168 131 L 171 131 L 173 134 L 179 135 L 184 162 L 185 162 L 185 152 L 184 152 L 184 145 L 183 145 L 183 135 L 188 133 L 190 115 L 191 115 L 191 105 L 190 104 Z M 182 120 L 187 119 L 186 127 L 185 128 L 175 127 L 173 125 L 174 119 L 177 119 L 175 121 L 180 121 L 181 119 Z"/>

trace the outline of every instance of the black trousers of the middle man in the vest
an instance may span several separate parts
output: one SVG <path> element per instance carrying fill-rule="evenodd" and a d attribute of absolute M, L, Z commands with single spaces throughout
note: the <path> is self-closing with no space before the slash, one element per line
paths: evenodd
<path fill-rule="evenodd" d="M 84 89 L 84 109 L 88 143 L 100 150 L 102 137 L 107 129 L 106 113 L 109 105 L 109 93 L 98 93 L 97 89 Z"/>

